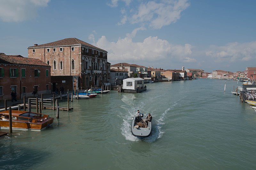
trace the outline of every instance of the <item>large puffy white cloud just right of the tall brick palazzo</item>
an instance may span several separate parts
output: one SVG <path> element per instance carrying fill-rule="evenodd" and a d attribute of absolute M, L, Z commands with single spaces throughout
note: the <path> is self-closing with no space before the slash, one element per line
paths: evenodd
<path fill-rule="evenodd" d="M 190 44 L 172 45 L 167 40 L 158 37 L 148 37 L 143 42 L 133 42 L 132 37 L 137 31 L 144 28 L 137 28 L 133 33 L 127 34 L 123 39 L 117 42 L 109 42 L 106 36 L 102 36 L 95 44 L 108 51 L 108 61 L 112 64 L 118 62 L 132 63 L 132 61 L 140 61 L 145 64 L 161 60 L 162 63 L 171 61 L 178 62 L 196 62 L 191 58 L 192 46 Z"/>

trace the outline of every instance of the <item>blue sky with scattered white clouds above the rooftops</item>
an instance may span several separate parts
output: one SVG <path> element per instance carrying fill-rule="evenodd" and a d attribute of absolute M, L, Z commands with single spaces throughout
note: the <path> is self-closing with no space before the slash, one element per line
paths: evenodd
<path fill-rule="evenodd" d="M 256 67 L 255 0 L 0 0 L 0 53 L 77 38 L 108 62 L 164 69 Z"/>

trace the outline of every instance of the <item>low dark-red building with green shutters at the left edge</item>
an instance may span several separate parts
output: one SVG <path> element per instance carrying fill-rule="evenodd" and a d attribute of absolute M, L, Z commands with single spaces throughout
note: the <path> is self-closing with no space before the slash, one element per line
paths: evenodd
<path fill-rule="evenodd" d="M 0 53 L 0 101 L 11 100 L 12 91 L 17 99 L 33 96 L 34 89 L 37 94 L 50 94 L 50 70 L 51 66 L 39 59 Z"/>

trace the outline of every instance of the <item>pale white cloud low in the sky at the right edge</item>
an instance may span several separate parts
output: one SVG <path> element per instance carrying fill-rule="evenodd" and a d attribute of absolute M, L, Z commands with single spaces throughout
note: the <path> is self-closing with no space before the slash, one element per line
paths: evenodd
<path fill-rule="evenodd" d="M 250 61 L 256 59 L 256 41 L 228 43 L 225 46 L 210 46 L 205 53 L 215 62 Z"/>

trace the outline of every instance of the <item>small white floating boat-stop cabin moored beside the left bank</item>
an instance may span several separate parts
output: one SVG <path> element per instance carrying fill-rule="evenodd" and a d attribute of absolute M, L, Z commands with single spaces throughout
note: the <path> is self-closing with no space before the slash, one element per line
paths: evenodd
<path fill-rule="evenodd" d="M 144 79 L 142 78 L 128 78 L 123 80 L 123 89 L 125 93 L 140 93 L 147 90 L 147 87 L 144 86 Z"/>

